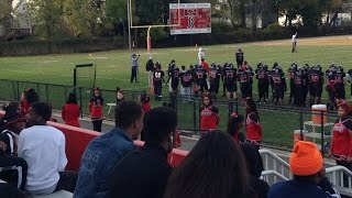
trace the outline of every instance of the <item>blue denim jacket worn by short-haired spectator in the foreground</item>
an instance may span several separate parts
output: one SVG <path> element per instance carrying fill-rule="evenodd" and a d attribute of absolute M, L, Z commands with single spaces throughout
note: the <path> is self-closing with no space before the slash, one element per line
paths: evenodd
<path fill-rule="evenodd" d="M 80 162 L 74 198 L 107 197 L 113 167 L 134 148 L 133 141 L 120 128 L 92 140 Z"/>

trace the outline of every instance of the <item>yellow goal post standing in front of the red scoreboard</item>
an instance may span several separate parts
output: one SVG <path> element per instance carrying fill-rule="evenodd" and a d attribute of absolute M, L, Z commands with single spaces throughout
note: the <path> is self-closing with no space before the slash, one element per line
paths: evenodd
<path fill-rule="evenodd" d="M 161 0 L 163 1 L 163 0 Z M 173 26 L 180 26 L 180 9 L 179 9 L 179 1 L 177 0 L 177 12 L 178 19 L 177 24 L 161 24 L 161 25 L 133 25 L 133 14 L 132 14 L 132 0 L 128 0 L 128 21 L 129 21 L 129 30 L 130 29 L 147 29 L 146 31 L 146 52 L 151 54 L 152 48 L 152 37 L 151 37 L 151 29 L 153 28 L 173 28 Z M 131 42 L 130 42 L 131 43 Z M 131 45 L 131 44 L 130 44 Z M 131 50 L 131 48 L 130 48 Z"/>

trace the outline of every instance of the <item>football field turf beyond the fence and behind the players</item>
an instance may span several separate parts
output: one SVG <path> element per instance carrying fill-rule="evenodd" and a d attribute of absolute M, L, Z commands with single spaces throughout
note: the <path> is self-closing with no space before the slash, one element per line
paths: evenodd
<path fill-rule="evenodd" d="M 257 63 L 270 67 L 277 62 L 285 72 L 295 62 L 298 65 L 320 64 L 327 68 L 331 63 L 352 68 L 352 35 L 327 36 L 298 40 L 298 53 L 290 52 L 290 40 L 254 42 L 231 45 L 209 45 L 205 48 L 209 64 L 234 62 L 234 53 L 241 47 L 244 57 L 255 68 Z M 198 48 L 174 47 L 152 50 L 154 62 L 158 61 L 164 70 L 172 59 L 178 67 L 196 64 Z M 141 54 L 140 82 L 130 84 L 131 61 L 129 51 L 109 51 L 82 54 L 54 54 L 41 56 L 0 57 L 1 79 L 16 79 L 59 85 L 73 85 L 73 70 L 77 64 L 92 63 L 97 65 L 97 86 L 105 89 L 114 89 L 117 86 L 127 90 L 141 90 L 147 88 L 145 63 L 148 55 L 145 50 L 134 53 Z M 90 56 L 89 56 L 90 54 Z M 91 77 L 90 73 L 81 75 Z M 255 89 L 254 89 L 255 90 Z"/>

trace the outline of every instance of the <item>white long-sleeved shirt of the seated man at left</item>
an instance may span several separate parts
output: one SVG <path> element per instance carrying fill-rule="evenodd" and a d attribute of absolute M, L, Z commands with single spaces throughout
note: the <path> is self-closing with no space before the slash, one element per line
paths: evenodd
<path fill-rule="evenodd" d="M 19 136 L 19 156 L 28 163 L 25 189 L 29 191 L 53 187 L 67 164 L 65 135 L 51 125 L 33 125 Z"/>

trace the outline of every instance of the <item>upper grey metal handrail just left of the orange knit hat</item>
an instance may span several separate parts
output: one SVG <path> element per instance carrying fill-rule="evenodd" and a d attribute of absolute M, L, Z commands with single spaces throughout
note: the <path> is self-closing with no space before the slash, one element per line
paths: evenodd
<path fill-rule="evenodd" d="M 293 178 L 289 170 L 289 164 L 280 158 L 278 155 L 268 150 L 260 150 L 260 154 L 263 158 L 263 165 L 265 170 L 275 170 L 287 178 Z M 273 158 L 270 161 L 270 158 Z"/>

